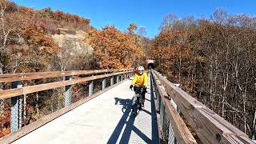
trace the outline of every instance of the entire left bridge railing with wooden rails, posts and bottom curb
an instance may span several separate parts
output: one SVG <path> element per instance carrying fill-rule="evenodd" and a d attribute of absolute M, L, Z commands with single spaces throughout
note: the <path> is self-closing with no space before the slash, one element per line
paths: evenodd
<path fill-rule="evenodd" d="M 78 70 L 78 71 L 54 71 L 54 72 L 40 72 L 40 73 L 25 73 L 25 74 L 1 74 L 0 82 L 12 82 L 12 89 L 0 90 L 0 99 L 11 99 L 10 104 L 10 129 L 11 134 L 0 139 L 0 143 L 14 142 L 16 139 L 21 138 L 23 135 L 30 133 L 38 127 L 58 118 L 62 114 L 73 110 L 74 108 L 82 105 L 84 102 L 97 97 L 106 90 L 118 85 L 126 78 L 130 78 L 133 70 Z M 72 79 L 72 76 L 82 75 L 82 78 Z M 42 79 L 42 78 L 65 78 L 59 82 L 49 82 L 38 84 L 34 86 L 22 86 L 22 81 Z M 106 78 L 110 78 L 110 86 L 106 87 Z M 116 83 L 114 84 L 114 78 Z M 102 79 L 102 90 L 94 94 L 94 80 Z M 72 98 L 72 85 L 89 82 L 88 97 L 79 100 L 78 102 L 71 103 Z M 57 110 L 52 114 L 46 115 L 44 118 L 28 126 L 22 127 L 22 97 L 26 94 L 36 93 L 42 90 L 52 90 L 58 87 L 65 87 L 64 98 L 65 107 Z"/>

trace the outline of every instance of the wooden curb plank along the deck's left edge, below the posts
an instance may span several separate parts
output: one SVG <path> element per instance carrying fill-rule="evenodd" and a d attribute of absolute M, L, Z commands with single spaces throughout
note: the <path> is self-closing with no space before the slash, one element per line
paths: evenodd
<path fill-rule="evenodd" d="M 126 80 L 124 80 L 122 82 L 125 82 Z M 38 121 L 31 123 L 30 125 L 22 127 L 21 130 L 18 130 L 16 132 L 12 133 L 12 134 L 6 135 L 3 138 L 0 138 L 0 143 L 14 142 L 18 138 L 22 138 L 26 134 L 29 134 L 30 132 L 38 129 L 39 127 L 45 125 L 46 123 L 53 121 L 55 118 L 58 118 L 58 117 L 62 116 L 63 114 L 66 114 L 70 110 L 74 110 L 74 108 L 76 108 L 78 106 L 81 106 L 82 104 L 90 101 L 93 98 L 96 98 L 98 95 L 106 92 L 107 90 L 112 89 L 114 86 L 117 86 L 118 84 L 120 84 L 122 82 L 118 82 L 118 83 L 114 84 L 113 86 L 107 87 L 105 90 L 101 90 L 98 93 L 92 94 L 91 96 L 83 98 L 82 100 L 80 100 L 78 102 L 74 102 L 73 104 L 62 108 L 61 110 L 55 111 L 52 114 L 48 114 L 44 118 L 41 118 Z"/>

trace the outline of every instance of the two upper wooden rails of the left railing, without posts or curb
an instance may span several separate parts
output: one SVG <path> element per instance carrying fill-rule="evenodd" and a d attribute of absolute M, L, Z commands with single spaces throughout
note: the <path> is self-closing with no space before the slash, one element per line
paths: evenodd
<path fill-rule="evenodd" d="M 111 73 L 112 72 L 112 73 Z M 46 72 L 46 73 L 30 73 L 30 74 L 2 74 L 0 75 L 0 82 L 18 82 L 24 80 L 32 80 L 39 78 L 57 78 L 57 77 L 70 77 L 73 75 L 88 75 L 99 74 L 86 78 L 70 79 L 61 82 L 50 82 L 36 86 L 19 87 L 10 90 L 0 91 L 0 98 L 12 98 L 18 95 L 31 94 L 42 90 L 51 90 L 62 86 L 70 86 L 80 82 L 88 82 L 95 79 L 107 78 L 114 75 L 126 74 L 127 70 L 84 70 L 84 71 L 67 71 L 67 72 Z M 110 73 L 110 74 L 108 74 Z"/>

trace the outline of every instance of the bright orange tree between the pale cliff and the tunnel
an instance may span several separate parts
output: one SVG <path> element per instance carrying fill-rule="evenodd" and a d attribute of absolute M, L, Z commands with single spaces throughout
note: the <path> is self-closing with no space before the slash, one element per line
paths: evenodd
<path fill-rule="evenodd" d="M 143 56 L 139 42 L 134 42 L 134 36 L 114 26 L 91 29 L 90 44 L 94 47 L 94 66 L 102 69 L 128 68 Z"/>

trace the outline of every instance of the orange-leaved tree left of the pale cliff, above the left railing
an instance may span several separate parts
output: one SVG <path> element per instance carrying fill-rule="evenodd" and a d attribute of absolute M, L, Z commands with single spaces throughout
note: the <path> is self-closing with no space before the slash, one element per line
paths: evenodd
<path fill-rule="evenodd" d="M 9 71 L 17 73 L 50 69 L 52 58 L 59 50 L 57 44 L 32 27 L 16 30 L 15 34 L 21 38 L 9 46 Z"/>

